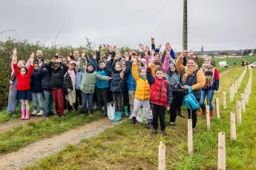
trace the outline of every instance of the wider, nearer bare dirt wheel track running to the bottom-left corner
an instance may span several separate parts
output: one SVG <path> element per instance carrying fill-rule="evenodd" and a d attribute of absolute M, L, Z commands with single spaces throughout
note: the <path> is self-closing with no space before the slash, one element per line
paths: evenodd
<path fill-rule="evenodd" d="M 34 163 L 42 157 L 59 152 L 68 143 L 77 144 L 80 140 L 96 136 L 105 128 L 115 126 L 121 122 L 111 122 L 107 118 L 95 120 L 84 126 L 79 126 L 76 129 L 65 132 L 62 135 L 55 135 L 32 143 L 29 146 L 19 149 L 17 152 L 3 154 L 0 156 L 0 169 L 21 169 L 22 166 Z"/>

